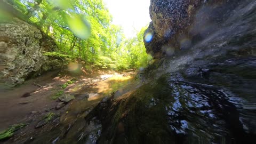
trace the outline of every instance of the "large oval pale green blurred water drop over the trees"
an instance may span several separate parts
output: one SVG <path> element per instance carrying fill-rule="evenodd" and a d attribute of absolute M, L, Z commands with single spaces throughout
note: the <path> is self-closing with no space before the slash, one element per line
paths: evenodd
<path fill-rule="evenodd" d="M 74 35 L 81 39 L 87 39 L 91 35 L 90 23 L 78 15 L 70 17 L 68 19 L 68 25 Z"/>

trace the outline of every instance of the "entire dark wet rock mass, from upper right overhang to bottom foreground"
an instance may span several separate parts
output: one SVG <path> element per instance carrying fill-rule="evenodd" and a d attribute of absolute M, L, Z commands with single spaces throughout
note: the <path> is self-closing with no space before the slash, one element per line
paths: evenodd
<path fill-rule="evenodd" d="M 102 124 L 97 142 L 254 143 L 255 10 L 253 1 L 151 1 L 146 49 L 167 57 L 140 73 L 147 84 L 85 117 Z"/>

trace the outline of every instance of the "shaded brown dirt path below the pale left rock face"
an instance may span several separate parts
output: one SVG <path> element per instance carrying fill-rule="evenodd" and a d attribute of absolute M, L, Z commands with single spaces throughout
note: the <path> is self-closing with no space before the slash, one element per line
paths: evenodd
<path fill-rule="evenodd" d="M 56 73 L 48 73 L 12 90 L 0 91 L 0 131 L 9 125 L 27 121 L 35 111 L 40 113 L 44 108 L 53 107 L 56 102 L 49 99 L 53 93 L 53 88 L 50 89 L 50 87 L 61 83 L 53 79 L 55 76 Z M 37 92 L 33 92 L 39 88 L 33 84 L 35 81 L 44 86 Z M 30 96 L 22 97 L 25 93 L 30 93 Z"/>

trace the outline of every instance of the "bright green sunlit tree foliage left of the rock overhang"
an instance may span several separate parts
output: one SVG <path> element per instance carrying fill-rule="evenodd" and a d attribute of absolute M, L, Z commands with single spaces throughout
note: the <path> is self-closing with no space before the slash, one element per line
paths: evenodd
<path fill-rule="evenodd" d="M 58 45 L 53 54 L 69 55 L 100 68 L 144 68 L 151 61 L 143 43 L 146 27 L 126 38 L 102 0 L 2 1 L 22 20 L 51 36 Z M 2 4 L 1 4 L 2 5 Z M 2 9 L 2 8 L 1 8 Z M 2 13 L 2 12 L 1 12 Z M 7 18 L 3 13 L 0 18 Z M 48 53 L 49 54 L 49 53 Z"/>

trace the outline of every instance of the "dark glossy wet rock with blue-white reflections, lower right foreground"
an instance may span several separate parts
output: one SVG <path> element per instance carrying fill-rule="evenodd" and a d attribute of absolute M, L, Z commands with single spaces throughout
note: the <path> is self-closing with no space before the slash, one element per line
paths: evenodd
<path fill-rule="evenodd" d="M 180 75 L 166 74 L 123 98 L 101 102 L 86 117 L 101 121 L 98 142 L 252 143 L 255 133 L 247 133 L 244 127 L 249 125 L 240 121 L 241 99 Z"/>

